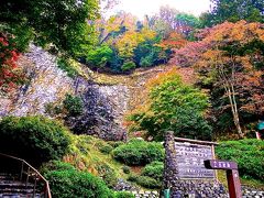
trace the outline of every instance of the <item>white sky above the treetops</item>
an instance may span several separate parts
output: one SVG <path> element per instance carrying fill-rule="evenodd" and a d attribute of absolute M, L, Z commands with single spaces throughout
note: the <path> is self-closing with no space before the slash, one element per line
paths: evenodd
<path fill-rule="evenodd" d="M 145 14 L 157 13 L 161 6 L 169 6 L 196 16 L 210 8 L 210 0 L 119 0 L 119 2 L 113 11 L 124 10 L 140 19 L 143 19 Z"/>

